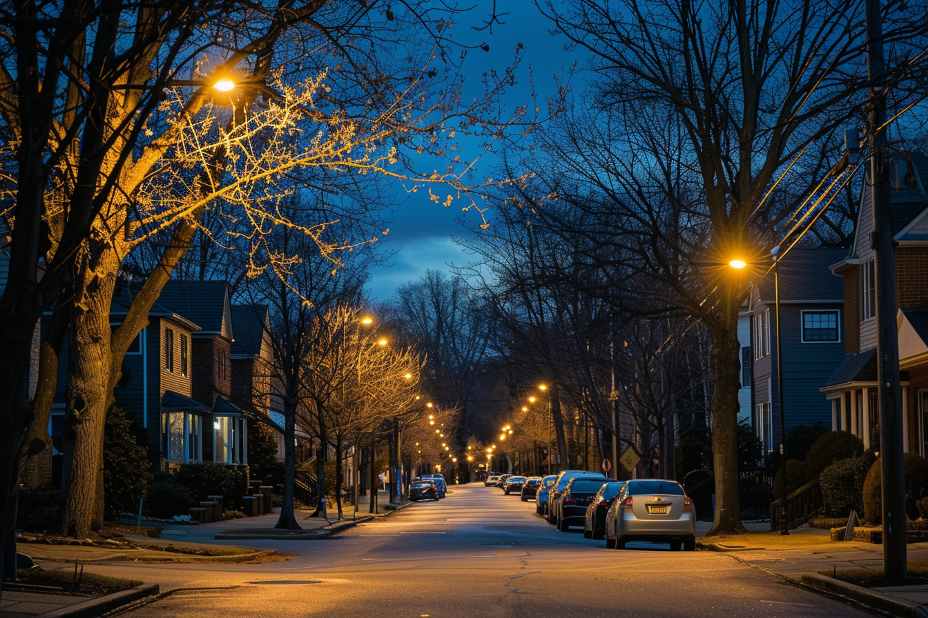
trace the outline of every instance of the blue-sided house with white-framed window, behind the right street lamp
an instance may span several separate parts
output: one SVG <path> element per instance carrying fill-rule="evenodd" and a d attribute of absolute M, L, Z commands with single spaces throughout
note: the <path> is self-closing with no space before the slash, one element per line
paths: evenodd
<path fill-rule="evenodd" d="M 780 259 L 782 408 L 774 272 L 768 272 L 751 290 L 747 315 L 753 422 L 767 456 L 780 444 L 780 413 L 787 430 L 801 424 L 831 423 L 831 407 L 822 401 L 818 388 L 844 359 L 842 282 L 829 271 L 844 253 L 844 249 L 793 248 Z"/>

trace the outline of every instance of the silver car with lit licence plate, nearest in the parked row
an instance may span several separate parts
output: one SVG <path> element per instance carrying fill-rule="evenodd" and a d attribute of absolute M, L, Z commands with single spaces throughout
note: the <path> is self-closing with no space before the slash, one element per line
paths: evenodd
<path fill-rule="evenodd" d="M 606 547 L 625 549 L 628 541 L 670 544 L 678 551 L 696 549 L 696 513 L 677 481 L 626 481 L 606 513 Z"/>

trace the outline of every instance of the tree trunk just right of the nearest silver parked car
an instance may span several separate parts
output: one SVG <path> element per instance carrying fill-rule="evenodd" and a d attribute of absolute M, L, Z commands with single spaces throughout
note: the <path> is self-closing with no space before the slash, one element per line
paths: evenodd
<path fill-rule="evenodd" d="M 728 301 L 712 350 L 712 448 L 715 463 L 715 520 L 710 536 L 745 532 L 738 496 L 738 306 Z"/>

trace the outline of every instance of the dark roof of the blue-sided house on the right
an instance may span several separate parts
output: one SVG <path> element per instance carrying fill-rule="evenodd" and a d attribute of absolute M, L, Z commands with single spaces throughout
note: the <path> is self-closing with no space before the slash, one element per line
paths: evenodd
<path fill-rule="evenodd" d="M 847 255 L 847 249 L 794 248 L 780 261 L 780 301 L 837 301 L 844 299 L 841 277 L 829 267 Z M 760 302 L 772 303 L 775 298 L 773 273 L 758 284 Z"/>

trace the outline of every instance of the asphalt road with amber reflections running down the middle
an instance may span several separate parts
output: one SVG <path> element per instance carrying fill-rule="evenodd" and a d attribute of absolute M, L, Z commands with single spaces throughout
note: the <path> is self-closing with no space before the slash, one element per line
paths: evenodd
<path fill-rule="evenodd" d="M 172 592 L 132 618 L 233 616 L 868 616 L 721 553 L 605 549 L 558 532 L 535 504 L 453 487 L 326 541 L 254 542 L 293 555 L 255 565 L 107 565 Z"/>

